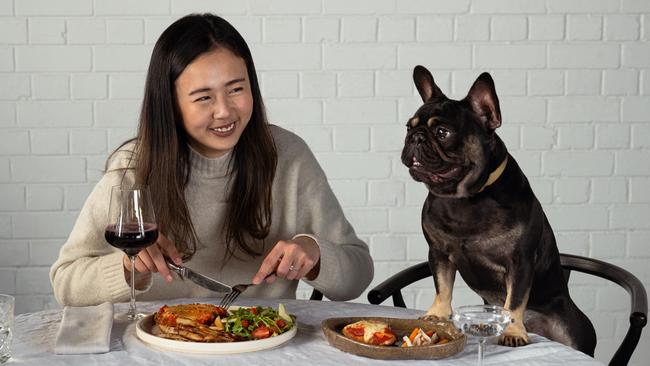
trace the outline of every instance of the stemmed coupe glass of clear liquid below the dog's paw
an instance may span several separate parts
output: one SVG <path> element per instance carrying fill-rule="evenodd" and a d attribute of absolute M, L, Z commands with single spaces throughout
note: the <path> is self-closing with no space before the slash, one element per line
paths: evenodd
<path fill-rule="evenodd" d="M 501 335 L 512 322 L 510 311 L 498 305 L 467 305 L 454 310 L 451 320 L 463 333 L 478 337 L 478 366 L 483 365 L 485 341 Z"/>

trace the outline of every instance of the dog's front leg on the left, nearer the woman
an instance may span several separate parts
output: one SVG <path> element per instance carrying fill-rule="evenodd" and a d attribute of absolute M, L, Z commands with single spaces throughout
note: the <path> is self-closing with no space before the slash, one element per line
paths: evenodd
<path fill-rule="evenodd" d="M 436 297 L 423 319 L 448 320 L 451 315 L 456 266 L 443 254 L 432 251 L 429 251 L 429 266 L 436 286 Z"/>

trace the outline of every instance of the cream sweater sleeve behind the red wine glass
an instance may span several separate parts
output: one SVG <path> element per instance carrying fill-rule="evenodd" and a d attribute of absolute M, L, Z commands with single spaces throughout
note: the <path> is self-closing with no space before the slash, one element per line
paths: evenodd
<path fill-rule="evenodd" d="M 61 305 L 87 306 L 128 301 L 130 287 L 122 265 L 124 253 L 104 239 L 111 187 L 122 171 L 106 173 L 86 200 L 77 221 L 50 268 L 54 296 Z M 136 289 L 147 289 L 151 275 L 136 275 Z"/>

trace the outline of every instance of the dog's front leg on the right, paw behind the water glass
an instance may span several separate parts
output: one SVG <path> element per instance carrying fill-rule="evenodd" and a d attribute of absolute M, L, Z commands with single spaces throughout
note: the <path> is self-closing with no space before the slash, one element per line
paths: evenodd
<path fill-rule="evenodd" d="M 532 276 L 522 272 L 521 270 L 519 273 L 512 271 L 506 279 L 506 302 L 503 307 L 510 310 L 513 322 L 499 337 L 499 344 L 504 346 L 519 347 L 528 344 L 528 332 L 524 326 L 524 311 L 528 305 Z"/>

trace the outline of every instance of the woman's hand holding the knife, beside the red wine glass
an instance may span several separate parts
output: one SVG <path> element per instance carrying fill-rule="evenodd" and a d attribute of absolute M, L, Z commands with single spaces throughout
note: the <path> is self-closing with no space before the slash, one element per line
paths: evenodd
<path fill-rule="evenodd" d="M 148 246 L 138 253 L 138 257 L 135 260 L 135 270 L 140 273 L 149 273 L 149 272 L 160 272 L 160 275 L 163 276 L 165 281 L 171 282 L 173 277 L 167 264 L 165 263 L 165 258 L 170 258 L 176 265 L 182 265 L 183 260 L 176 250 L 174 243 L 169 241 L 164 235 L 158 234 L 158 240 L 153 245 Z M 125 254 L 122 258 L 122 264 L 124 269 L 131 271 L 131 260 Z"/>

